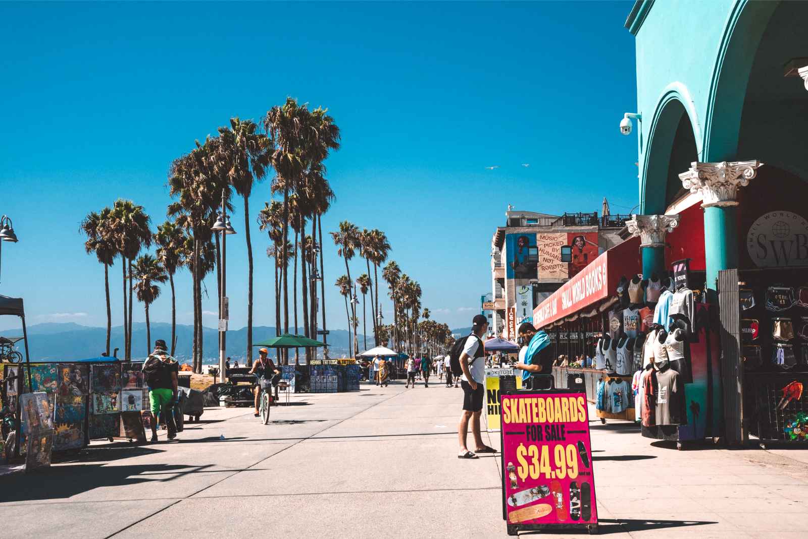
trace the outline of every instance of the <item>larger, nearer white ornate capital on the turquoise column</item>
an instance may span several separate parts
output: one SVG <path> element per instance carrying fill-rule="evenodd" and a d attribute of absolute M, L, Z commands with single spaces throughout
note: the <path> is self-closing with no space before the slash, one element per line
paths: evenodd
<path fill-rule="evenodd" d="M 760 161 L 722 161 L 699 163 L 693 161 L 687 172 L 679 175 L 682 186 L 691 193 L 701 191 L 701 207 L 738 206 L 738 188 L 749 185 L 755 178 Z"/>

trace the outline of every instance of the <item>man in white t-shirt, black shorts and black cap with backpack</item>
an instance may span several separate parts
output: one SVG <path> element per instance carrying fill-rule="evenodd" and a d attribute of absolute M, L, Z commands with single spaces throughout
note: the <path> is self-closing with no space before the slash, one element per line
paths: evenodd
<path fill-rule="evenodd" d="M 477 453 L 496 453 L 496 450 L 482 442 L 480 435 L 480 415 L 482 400 L 485 398 L 486 385 L 486 352 L 482 345 L 482 336 L 488 331 L 488 319 L 483 315 L 475 315 L 471 322 L 471 335 L 465 338 L 463 351 L 460 354 L 460 366 L 463 371 L 461 386 L 463 387 L 463 415 L 457 425 L 457 439 L 460 441 L 460 453 L 457 458 L 478 458 Z M 476 449 L 472 453 L 466 445 L 469 434 L 474 437 Z"/>

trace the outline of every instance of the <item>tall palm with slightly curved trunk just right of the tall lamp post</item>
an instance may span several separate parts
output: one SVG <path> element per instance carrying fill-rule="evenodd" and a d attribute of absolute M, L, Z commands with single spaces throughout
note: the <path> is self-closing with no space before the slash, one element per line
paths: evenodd
<path fill-rule="evenodd" d="M 244 198 L 244 239 L 247 245 L 247 366 L 252 366 L 253 257 L 250 239 L 250 194 L 256 180 L 267 172 L 269 140 L 258 132 L 252 120 L 230 119 L 230 127 L 219 127 L 217 165 L 219 173 Z"/>

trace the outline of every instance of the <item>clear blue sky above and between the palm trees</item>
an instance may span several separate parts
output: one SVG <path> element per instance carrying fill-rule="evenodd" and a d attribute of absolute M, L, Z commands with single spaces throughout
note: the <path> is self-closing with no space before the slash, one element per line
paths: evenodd
<path fill-rule="evenodd" d="M 327 161 L 337 201 L 324 233 L 349 219 L 387 232 L 423 305 L 469 325 L 490 290 L 490 239 L 507 204 L 561 213 L 637 201 L 630 2 L 0 4 L 0 294 L 30 323 L 105 324 L 103 266 L 78 224 L 116 198 L 165 219 L 170 161 L 231 116 L 260 119 L 286 96 L 330 109 L 343 148 Z M 529 163 L 525 168 L 522 163 Z M 501 168 L 486 170 L 489 165 Z M 269 183 L 251 198 L 255 217 Z M 240 208 L 241 204 L 237 204 Z M 246 247 L 228 243 L 231 327 L 246 323 Z M 251 224 L 255 324 L 274 324 L 266 236 Z M 356 261 L 351 273 L 364 264 Z M 326 307 L 345 328 L 326 248 Z M 120 267 L 112 275 L 120 324 Z M 191 323 L 187 272 L 178 321 Z M 216 281 L 204 323 L 216 325 Z M 385 297 L 385 315 L 391 305 Z M 135 320 L 144 320 L 136 305 Z M 170 320 L 164 290 L 152 320 Z M 388 317 L 389 320 L 389 317 Z M 302 323 L 301 323 L 302 324 Z M 16 325 L 0 320 L 0 328 Z"/>

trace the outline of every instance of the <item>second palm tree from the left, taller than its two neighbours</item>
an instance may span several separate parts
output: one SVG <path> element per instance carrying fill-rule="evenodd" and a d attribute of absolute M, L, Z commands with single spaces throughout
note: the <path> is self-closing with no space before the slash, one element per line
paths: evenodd
<path fill-rule="evenodd" d="M 134 283 L 132 279 L 132 265 L 143 247 L 151 245 L 151 230 L 149 229 L 149 215 L 143 207 L 131 200 L 119 198 L 112 207 L 112 237 L 116 249 L 124 259 L 124 333 L 126 334 L 126 359 L 132 358 L 132 303 Z M 127 271 L 128 270 L 128 271 Z M 126 276 L 129 277 L 128 313 L 126 312 Z"/>

